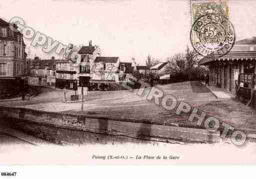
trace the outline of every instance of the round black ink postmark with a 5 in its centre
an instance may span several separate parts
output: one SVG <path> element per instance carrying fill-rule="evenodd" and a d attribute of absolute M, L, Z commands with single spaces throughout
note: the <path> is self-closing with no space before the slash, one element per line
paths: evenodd
<path fill-rule="evenodd" d="M 223 56 L 234 46 L 236 35 L 227 17 L 210 13 L 200 16 L 194 22 L 190 40 L 193 48 L 202 56 L 217 51 Z"/>

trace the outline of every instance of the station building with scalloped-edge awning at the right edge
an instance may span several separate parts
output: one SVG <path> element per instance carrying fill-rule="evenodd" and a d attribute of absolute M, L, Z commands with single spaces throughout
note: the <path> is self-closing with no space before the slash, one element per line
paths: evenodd
<path fill-rule="evenodd" d="M 237 41 L 227 54 L 209 54 L 199 64 L 209 67 L 210 85 L 234 94 L 245 91 L 247 100 L 252 100 L 251 93 L 256 90 L 256 37 Z"/>

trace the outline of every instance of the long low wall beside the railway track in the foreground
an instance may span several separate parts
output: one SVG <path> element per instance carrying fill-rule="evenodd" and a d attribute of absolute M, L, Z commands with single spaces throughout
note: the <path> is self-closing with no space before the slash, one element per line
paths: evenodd
<path fill-rule="evenodd" d="M 11 125 L 44 140 L 61 143 L 69 140 L 73 132 L 79 131 L 79 136 L 88 135 L 91 140 L 97 141 L 93 133 L 111 136 L 122 136 L 141 140 L 159 142 L 194 141 L 219 142 L 220 132 L 210 133 L 204 129 L 192 129 L 173 126 L 150 125 L 133 122 L 93 118 L 84 115 L 45 112 L 25 108 L 0 106 L 0 119 L 9 119 Z M 81 133 L 86 132 L 86 133 Z M 66 139 L 63 138 L 62 134 Z M 88 134 L 90 133 L 90 134 Z M 61 136 L 62 135 L 62 136 Z"/>

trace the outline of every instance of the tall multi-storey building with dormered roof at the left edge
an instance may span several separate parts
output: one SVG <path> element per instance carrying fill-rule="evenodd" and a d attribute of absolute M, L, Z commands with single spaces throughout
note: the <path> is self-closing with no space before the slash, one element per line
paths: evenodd
<path fill-rule="evenodd" d="M 26 80 L 26 53 L 23 35 L 0 19 L 0 95 L 16 95 Z"/>

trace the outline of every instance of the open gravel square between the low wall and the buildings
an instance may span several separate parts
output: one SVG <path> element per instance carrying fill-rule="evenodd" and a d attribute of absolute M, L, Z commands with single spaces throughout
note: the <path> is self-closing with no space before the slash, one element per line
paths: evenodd
<path fill-rule="evenodd" d="M 218 100 L 199 82 L 182 82 L 161 85 L 158 88 L 164 94 L 174 95 L 178 101 L 186 101 L 192 107 L 204 111 L 207 116 L 217 117 L 221 122 L 237 128 L 256 129 L 255 110 L 237 100 Z M 72 93 L 72 91 L 70 92 Z M 90 91 L 85 97 L 84 111 L 80 103 L 63 103 L 62 92 L 47 91 L 35 96 L 31 101 L 20 99 L 0 101 L 0 105 L 18 106 L 43 111 L 83 114 L 113 120 L 131 121 L 147 124 L 160 124 L 181 127 L 203 128 L 196 125 L 197 120 L 188 121 L 190 113 L 176 115 L 175 111 L 167 111 L 146 100 L 146 95 L 138 96 L 135 92 L 124 91 Z"/>

